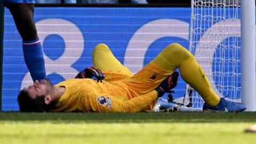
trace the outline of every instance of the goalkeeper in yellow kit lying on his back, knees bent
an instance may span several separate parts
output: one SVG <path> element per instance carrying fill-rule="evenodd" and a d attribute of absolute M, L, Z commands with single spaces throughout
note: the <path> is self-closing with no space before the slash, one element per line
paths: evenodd
<path fill-rule="evenodd" d="M 242 103 L 220 98 L 212 89 L 201 66 L 193 55 L 177 43 L 167 46 L 137 74 L 131 74 L 111 53 L 108 46 L 99 44 L 93 52 L 94 67 L 100 73 L 86 73 L 77 78 L 52 85 L 50 79 L 35 81 L 18 95 L 20 111 L 83 111 L 83 112 L 137 112 L 151 111 L 165 92 L 177 85 L 180 69 L 182 78 L 202 96 L 204 110 L 243 111 Z M 94 71 L 95 72 L 95 71 Z M 98 71 L 99 72 L 99 71 Z M 88 75 L 89 74 L 89 75 Z M 90 75 L 91 74 L 91 75 Z M 98 77 L 95 81 L 91 78 Z M 82 78 L 82 79 L 81 79 Z"/>

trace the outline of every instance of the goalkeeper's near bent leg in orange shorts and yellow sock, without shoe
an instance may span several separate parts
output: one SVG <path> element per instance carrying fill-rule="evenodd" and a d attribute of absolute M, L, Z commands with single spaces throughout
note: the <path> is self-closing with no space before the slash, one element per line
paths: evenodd
<path fill-rule="evenodd" d="M 204 71 L 193 55 L 177 43 L 167 46 L 153 61 L 125 83 L 138 93 L 147 93 L 154 90 L 177 68 L 180 68 L 182 78 L 193 86 L 207 103 L 212 106 L 219 103 L 219 96 L 211 89 Z"/>

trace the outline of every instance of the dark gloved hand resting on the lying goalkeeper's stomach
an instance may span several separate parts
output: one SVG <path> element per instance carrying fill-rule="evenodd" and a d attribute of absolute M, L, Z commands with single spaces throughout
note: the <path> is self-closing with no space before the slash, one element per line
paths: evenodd
<path fill-rule="evenodd" d="M 75 78 L 92 78 L 95 77 L 97 80 L 101 81 L 105 78 L 105 75 L 101 70 L 95 67 L 87 67 L 80 71 Z"/>

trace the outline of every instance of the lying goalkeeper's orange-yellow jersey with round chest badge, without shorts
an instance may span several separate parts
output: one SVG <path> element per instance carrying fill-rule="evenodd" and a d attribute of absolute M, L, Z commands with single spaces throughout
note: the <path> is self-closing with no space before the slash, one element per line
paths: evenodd
<path fill-rule="evenodd" d="M 93 79 L 69 79 L 57 84 L 66 87 L 54 109 L 50 111 L 83 111 L 83 112 L 136 112 L 154 105 L 157 92 L 134 97 L 133 93 L 122 89 L 121 83 L 97 82 Z M 133 96 L 131 96 L 133 95 Z"/>

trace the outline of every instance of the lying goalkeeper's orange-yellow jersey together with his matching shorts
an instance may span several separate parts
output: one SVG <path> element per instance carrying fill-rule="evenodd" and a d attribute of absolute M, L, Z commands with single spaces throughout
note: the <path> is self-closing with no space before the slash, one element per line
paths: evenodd
<path fill-rule="evenodd" d="M 121 81 L 68 79 L 57 84 L 66 87 L 66 91 L 50 111 L 151 111 L 157 100 L 154 89 L 170 73 L 172 71 L 163 70 L 150 62 L 139 73 L 129 78 L 120 78 Z"/>

